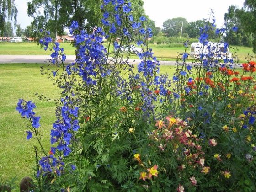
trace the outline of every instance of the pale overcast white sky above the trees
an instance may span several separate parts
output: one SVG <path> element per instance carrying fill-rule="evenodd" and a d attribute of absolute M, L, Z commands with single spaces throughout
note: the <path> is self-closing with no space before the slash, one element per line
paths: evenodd
<path fill-rule="evenodd" d="M 29 0 L 15 0 L 18 8 L 17 24 L 25 29 L 32 21 L 27 16 L 27 2 Z M 243 6 L 245 0 L 144 0 L 144 9 L 150 19 L 155 21 L 156 27 L 163 26 L 167 19 L 183 17 L 188 22 L 206 19 L 213 9 L 217 27 L 222 27 L 224 14 L 230 5 Z"/>

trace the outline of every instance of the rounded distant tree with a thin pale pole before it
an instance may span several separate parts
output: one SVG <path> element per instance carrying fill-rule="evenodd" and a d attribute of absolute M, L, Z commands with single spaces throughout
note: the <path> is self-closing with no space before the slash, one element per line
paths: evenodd
<path fill-rule="evenodd" d="M 183 23 L 183 26 L 182 26 Z M 182 30 L 186 30 L 188 25 L 187 19 L 182 17 L 177 17 L 173 19 L 168 19 L 163 23 L 163 32 L 166 33 L 167 37 L 178 37 Z"/>

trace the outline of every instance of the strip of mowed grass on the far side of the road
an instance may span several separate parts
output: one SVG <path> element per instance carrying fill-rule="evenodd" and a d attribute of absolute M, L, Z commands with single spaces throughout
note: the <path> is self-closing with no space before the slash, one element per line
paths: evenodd
<path fill-rule="evenodd" d="M 104 43 L 106 46 L 107 44 Z M 67 55 L 75 54 L 75 48 L 71 45 L 71 43 L 60 43 L 60 47 L 64 48 L 64 53 Z M 154 56 L 156 56 L 159 60 L 176 60 L 179 54 L 184 53 L 185 48 L 183 47 L 169 47 L 168 45 L 154 45 L 149 44 L 149 47 L 153 49 Z M 111 49 L 112 50 L 112 45 Z M 237 50 L 238 49 L 238 50 Z M 187 50 L 190 53 L 189 49 Z M 245 59 L 248 56 L 252 56 L 252 60 L 256 60 L 255 54 L 252 52 L 252 48 L 248 47 L 230 47 L 230 52 L 240 59 L 240 62 L 246 62 Z M 236 52 L 236 53 L 235 53 Z M 43 55 L 49 54 L 49 52 L 45 52 L 43 48 L 38 46 L 36 43 L 30 42 L 22 42 L 22 43 L 9 43 L 9 42 L 1 42 L 0 43 L 0 55 Z M 0 56 L 1 57 L 1 56 Z M 180 55 L 182 57 L 182 55 Z"/>

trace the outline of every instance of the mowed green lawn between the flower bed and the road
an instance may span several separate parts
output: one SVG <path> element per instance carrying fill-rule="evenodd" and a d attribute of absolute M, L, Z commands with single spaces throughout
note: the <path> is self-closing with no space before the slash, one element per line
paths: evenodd
<path fill-rule="evenodd" d="M 26 139 L 26 120 L 16 111 L 18 99 L 36 104 L 45 149 L 50 149 L 49 134 L 56 120 L 56 106 L 52 100 L 60 98 L 59 88 L 47 75 L 41 75 L 40 66 L 48 68 L 47 64 L 0 64 L 0 176 L 7 180 L 17 176 L 17 185 L 23 177 L 32 175 L 36 165 L 33 146 L 39 147 L 35 139 Z M 173 74 L 174 71 L 173 66 L 160 67 L 160 73 Z M 51 101 L 39 100 L 36 93 Z"/>

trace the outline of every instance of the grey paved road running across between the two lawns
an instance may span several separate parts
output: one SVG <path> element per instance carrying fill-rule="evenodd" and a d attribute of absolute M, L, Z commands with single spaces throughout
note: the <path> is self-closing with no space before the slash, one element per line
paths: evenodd
<path fill-rule="evenodd" d="M 0 64 L 6 63 L 48 63 L 51 59 L 49 55 L 0 55 Z M 75 62 L 75 55 L 66 55 L 65 63 Z M 132 61 L 130 61 L 131 63 Z M 139 64 L 140 60 L 135 59 L 134 64 Z M 162 65 L 175 65 L 175 61 L 160 61 Z"/>

